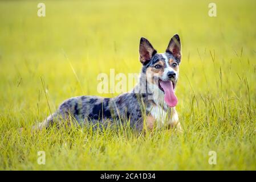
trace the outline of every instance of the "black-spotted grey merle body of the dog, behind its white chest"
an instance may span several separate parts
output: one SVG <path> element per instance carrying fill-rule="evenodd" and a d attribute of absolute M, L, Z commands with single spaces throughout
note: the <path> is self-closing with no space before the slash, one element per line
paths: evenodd
<path fill-rule="evenodd" d="M 44 121 L 45 127 L 52 123 L 73 119 L 80 125 L 112 126 L 127 122 L 137 130 L 143 129 L 143 115 L 149 114 L 147 107 L 153 101 L 148 100 L 147 93 L 132 92 L 120 94 L 114 98 L 97 96 L 72 97 L 64 101 L 59 109 Z M 97 125 L 99 124 L 99 125 Z M 127 124 L 127 123 L 123 123 Z"/>

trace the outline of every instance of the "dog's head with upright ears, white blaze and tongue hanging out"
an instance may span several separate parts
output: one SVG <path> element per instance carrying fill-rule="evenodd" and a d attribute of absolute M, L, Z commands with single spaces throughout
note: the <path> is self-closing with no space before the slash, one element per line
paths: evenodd
<path fill-rule="evenodd" d="M 164 93 L 164 100 L 170 107 L 177 104 L 174 94 L 178 80 L 178 66 L 181 62 L 181 43 L 176 34 L 170 39 L 164 53 L 157 53 L 152 44 L 145 38 L 140 39 L 140 61 L 143 73 L 151 85 L 152 92 Z"/>

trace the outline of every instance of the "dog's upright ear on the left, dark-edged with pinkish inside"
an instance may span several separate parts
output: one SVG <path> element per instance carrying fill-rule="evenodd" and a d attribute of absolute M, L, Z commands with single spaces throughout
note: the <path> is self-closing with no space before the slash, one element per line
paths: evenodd
<path fill-rule="evenodd" d="M 152 56 L 156 54 L 156 50 L 153 48 L 151 43 L 145 39 L 140 39 L 140 62 L 142 64 L 147 64 L 151 60 Z"/>

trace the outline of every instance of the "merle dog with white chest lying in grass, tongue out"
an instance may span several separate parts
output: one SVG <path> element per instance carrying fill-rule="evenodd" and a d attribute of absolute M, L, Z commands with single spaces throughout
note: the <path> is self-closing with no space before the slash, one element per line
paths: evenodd
<path fill-rule="evenodd" d="M 153 130 L 156 126 L 182 131 L 174 94 L 181 63 L 180 37 L 174 35 L 164 53 L 157 53 L 147 39 L 141 38 L 139 55 L 142 64 L 139 82 L 130 92 L 113 98 L 72 97 L 34 128 L 47 129 L 54 123 L 59 126 L 68 121 L 100 127 L 129 125 L 138 131 Z"/>

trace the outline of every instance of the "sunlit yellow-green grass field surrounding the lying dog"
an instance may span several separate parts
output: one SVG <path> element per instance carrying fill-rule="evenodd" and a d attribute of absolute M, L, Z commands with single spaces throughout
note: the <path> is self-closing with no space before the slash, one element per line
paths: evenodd
<path fill-rule="evenodd" d="M 212 1 L 43 1 L 45 17 L 39 2 L 0 1 L 0 169 L 256 169 L 255 1 L 214 1 L 217 17 Z M 97 93 L 97 75 L 139 73 L 140 37 L 164 52 L 176 33 L 184 133 L 30 132 L 67 98 L 116 96 Z"/>

